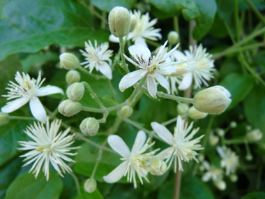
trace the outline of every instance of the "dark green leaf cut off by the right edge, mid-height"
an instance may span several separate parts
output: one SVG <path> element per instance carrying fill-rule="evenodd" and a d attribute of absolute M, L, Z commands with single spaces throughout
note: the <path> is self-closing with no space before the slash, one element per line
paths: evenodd
<path fill-rule="evenodd" d="M 262 84 L 255 85 L 243 101 L 243 106 L 248 122 L 265 132 L 265 87 Z"/>

